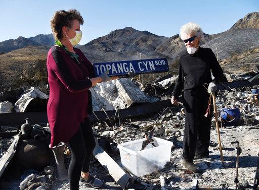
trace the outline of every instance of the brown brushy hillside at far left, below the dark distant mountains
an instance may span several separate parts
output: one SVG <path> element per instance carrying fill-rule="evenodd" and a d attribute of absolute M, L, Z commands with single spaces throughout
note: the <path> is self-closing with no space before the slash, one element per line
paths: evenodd
<path fill-rule="evenodd" d="M 47 83 L 49 46 L 30 46 L 0 55 L 0 89 Z"/>

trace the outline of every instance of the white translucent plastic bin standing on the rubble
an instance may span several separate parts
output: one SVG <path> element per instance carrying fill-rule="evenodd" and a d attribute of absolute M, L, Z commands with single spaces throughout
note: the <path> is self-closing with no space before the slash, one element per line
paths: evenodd
<path fill-rule="evenodd" d="M 121 143 L 117 147 L 122 167 L 140 177 L 164 168 L 170 161 L 172 142 L 154 137 L 154 144 L 141 150 L 146 139 Z"/>

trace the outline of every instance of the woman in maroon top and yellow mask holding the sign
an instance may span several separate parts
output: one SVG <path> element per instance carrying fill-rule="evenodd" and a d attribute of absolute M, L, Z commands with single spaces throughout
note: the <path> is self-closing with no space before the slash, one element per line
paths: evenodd
<path fill-rule="evenodd" d="M 48 53 L 47 69 L 50 98 L 47 106 L 51 129 L 50 147 L 67 143 L 71 152 L 68 168 L 70 189 L 79 188 L 79 180 L 93 187 L 102 181 L 89 173 L 95 140 L 88 114 L 92 112 L 90 88 L 110 78 L 95 77 L 93 65 L 77 45 L 82 37 L 83 18 L 77 10 L 57 11 L 51 19 L 56 40 Z"/>

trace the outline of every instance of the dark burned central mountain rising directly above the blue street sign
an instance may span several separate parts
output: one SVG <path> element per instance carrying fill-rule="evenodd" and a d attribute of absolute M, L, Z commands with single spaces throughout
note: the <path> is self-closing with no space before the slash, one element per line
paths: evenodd
<path fill-rule="evenodd" d="M 155 49 L 167 38 L 132 27 L 112 31 L 79 48 L 93 62 L 166 57 Z M 170 59 L 170 57 L 167 57 Z"/>

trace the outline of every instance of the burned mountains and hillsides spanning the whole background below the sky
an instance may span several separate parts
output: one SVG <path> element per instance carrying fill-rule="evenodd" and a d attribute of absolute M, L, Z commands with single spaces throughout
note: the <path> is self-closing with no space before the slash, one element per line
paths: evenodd
<path fill-rule="evenodd" d="M 259 65 L 258 23 L 259 13 L 249 13 L 225 32 L 204 34 L 201 44 L 215 54 L 218 48 L 219 61 L 228 70 L 227 66 L 235 70 L 241 68 L 240 64 Z M 13 81 L 14 78 L 24 79 L 24 76 L 35 79 L 36 71 L 46 71 L 46 56 L 53 43 L 52 34 L 0 42 L 0 80 L 6 79 L 7 73 Z M 171 68 L 177 68 L 177 59 L 186 51 L 178 34 L 167 38 L 132 27 L 114 30 L 77 47 L 92 62 L 165 57 L 169 64 L 174 63 Z M 246 68 L 249 70 L 249 65 Z"/>

